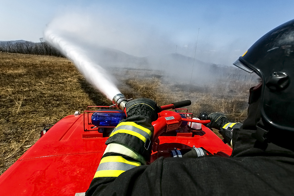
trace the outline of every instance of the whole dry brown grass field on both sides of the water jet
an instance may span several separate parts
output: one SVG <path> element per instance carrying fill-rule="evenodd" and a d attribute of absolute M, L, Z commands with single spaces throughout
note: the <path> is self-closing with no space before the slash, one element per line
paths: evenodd
<path fill-rule="evenodd" d="M 117 76 L 127 98 L 146 97 L 158 105 L 185 100 L 184 85 L 160 77 Z M 248 89 L 253 84 L 220 81 L 192 86 L 190 112 L 223 112 L 233 121 L 246 118 Z M 209 93 L 211 92 L 211 93 Z M 88 105 L 111 105 L 66 58 L 0 53 L 0 174 L 40 137 L 44 126 Z"/>

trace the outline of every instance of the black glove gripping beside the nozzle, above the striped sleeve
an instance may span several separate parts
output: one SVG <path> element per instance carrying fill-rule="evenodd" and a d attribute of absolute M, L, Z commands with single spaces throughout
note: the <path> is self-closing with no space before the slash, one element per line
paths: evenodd
<path fill-rule="evenodd" d="M 138 98 L 126 103 L 126 115 L 128 118 L 134 118 L 138 115 L 144 115 L 149 118 L 151 122 L 157 120 L 158 118 L 159 107 L 157 103 L 151 99 L 147 98 Z"/>

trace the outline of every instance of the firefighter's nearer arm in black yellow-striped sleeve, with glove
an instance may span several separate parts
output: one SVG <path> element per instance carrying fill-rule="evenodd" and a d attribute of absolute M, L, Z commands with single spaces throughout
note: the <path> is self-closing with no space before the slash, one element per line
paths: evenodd
<path fill-rule="evenodd" d="M 106 140 L 106 150 L 86 195 L 98 195 L 123 172 L 145 165 L 151 154 L 152 121 L 156 102 L 136 99 L 126 104 L 127 119 L 121 120 Z"/>

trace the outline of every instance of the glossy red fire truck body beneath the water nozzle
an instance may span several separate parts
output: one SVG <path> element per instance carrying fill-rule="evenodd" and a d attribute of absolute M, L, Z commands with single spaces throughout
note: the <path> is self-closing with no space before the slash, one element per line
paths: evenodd
<path fill-rule="evenodd" d="M 74 196 L 86 192 L 108 137 L 97 130 L 85 132 L 84 116 L 87 118 L 87 113 L 66 116 L 32 145 L 0 176 L 1 195 Z M 162 111 L 159 116 L 153 122 L 155 132 L 164 131 L 159 141 L 153 143 L 150 163 L 160 156 L 171 157 L 170 150 L 188 150 L 193 146 L 203 147 L 211 154 L 231 155 L 232 149 L 204 125 L 201 131 L 176 131 L 172 130 L 175 125 L 181 125 L 178 113 Z"/>

